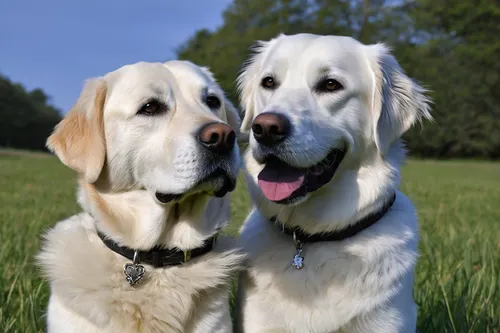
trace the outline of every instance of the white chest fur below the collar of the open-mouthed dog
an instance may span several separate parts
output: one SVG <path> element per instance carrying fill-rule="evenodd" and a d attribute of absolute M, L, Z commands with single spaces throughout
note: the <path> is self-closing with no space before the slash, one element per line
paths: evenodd
<path fill-rule="evenodd" d="M 402 200 L 383 219 L 341 242 L 306 243 L 292 266 L 291 236 L 254 210 L 241 232 L 249 268 L 242 274 L 245 332 L 251 321 L 286 332 L 335 332 L 412 288 L 416 218 Z"/>

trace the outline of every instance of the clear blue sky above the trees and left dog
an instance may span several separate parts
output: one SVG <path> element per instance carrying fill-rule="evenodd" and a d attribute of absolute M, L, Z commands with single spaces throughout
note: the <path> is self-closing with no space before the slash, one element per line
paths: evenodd
<path fill-rule="evenodd" d="M 85 79 L 137 61 L 166 61 L 231 0 L 0 0 L 0 73 L 40 87 L 63 112 Z"/>

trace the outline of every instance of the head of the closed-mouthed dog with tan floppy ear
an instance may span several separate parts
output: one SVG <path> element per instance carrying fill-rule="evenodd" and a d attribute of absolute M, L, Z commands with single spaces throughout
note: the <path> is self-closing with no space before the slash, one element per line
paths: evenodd
<path fill-rule="evenodd" d="M 146 189 L 165 204 L 234 189 L 239 124 L 207 69 L 137 63 L 87 82 L 47 146 L 87 183 Z"/>

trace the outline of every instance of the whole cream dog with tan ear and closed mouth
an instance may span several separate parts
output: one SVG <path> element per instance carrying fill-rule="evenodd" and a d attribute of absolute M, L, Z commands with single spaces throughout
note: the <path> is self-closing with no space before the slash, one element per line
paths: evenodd
<path fill-rule="evenodd" d="M 91 80 L 47 141 L 85 212 L 46 234 L 49 333 L 231 332 L 240 121 L 212 74 L 137 63 Z"/>

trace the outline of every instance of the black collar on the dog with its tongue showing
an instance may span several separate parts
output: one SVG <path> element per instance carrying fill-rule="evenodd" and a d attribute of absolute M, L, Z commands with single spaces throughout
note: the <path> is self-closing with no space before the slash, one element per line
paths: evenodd
<path fill-rule="evenodd" d="M 365 230 L 366 228 L 375 224 L 378 220 L 380 220 L 392 207 L 396 201 L 396 193 L 391 196 L 389 201 L 385 203 L 385 205 L 378 211 L 369 214 L 368 216 L 362 218 L 361 220 L 348 225 L 344 229 L 335 230 L 328 233 L 320 233 L 320 234 L 308 234 L 302 229 L 298 227 L 289 228 L 284 226 L 282 223 L 279 223 L 282 231 L 287 235 L 293 235 L 295 237 L 296 242 L 300 243 L 316 243 L 316 242 L 333 242 L 333 241 L 341 241 L 346 238 L 352 237 L 359 232 Z M 276 222 L 276 216 L 272 217 L 271 222 Z M 279 222 L 279 221 L 278 221 Z"/>

